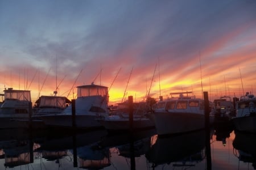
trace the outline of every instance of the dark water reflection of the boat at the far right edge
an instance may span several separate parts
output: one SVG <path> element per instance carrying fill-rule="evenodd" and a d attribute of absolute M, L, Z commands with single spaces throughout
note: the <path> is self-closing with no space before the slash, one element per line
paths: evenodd
<path fill-rule="evenodd" d="M 242 133 L 235 131 L 236 137 L 233 141 L 234 155 L 237 156 L 240 162 L 251 163 L 251 166 L 256 169 L 256 134 Z M 238 167 L 239 169 L 240 167 Z"/>

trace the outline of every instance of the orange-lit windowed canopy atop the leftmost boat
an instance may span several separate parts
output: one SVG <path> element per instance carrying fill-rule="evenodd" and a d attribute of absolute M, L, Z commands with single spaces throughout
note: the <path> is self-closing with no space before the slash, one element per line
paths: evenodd
<path fill-rule="evenodd" d="M 16 99 L 16 100 L 26 100 L 31 101 L 31 95 L 29 90 L 13 90 L 13 88 L 8 88 L 4 90 L 5 100 Z"/>

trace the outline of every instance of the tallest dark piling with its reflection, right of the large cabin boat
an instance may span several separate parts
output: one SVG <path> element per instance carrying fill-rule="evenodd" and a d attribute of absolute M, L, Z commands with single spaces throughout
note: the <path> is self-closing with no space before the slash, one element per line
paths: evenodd
<path fill-rule="evenodd" d="M 210 105 L 208 92 L 204 92 L 204 114 L 205 114 L 205 152 L 207 155 L 207 169 L 212 169 L 212 156 L 210 155 Z"/>

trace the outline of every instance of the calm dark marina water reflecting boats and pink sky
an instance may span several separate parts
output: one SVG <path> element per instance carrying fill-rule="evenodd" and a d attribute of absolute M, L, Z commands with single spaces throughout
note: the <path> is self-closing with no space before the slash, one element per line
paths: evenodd
<path fill-rule="evenodd" d="M 210 135 L 202 130 L 161 138 L 155 129 L 133 135 L 53 129 L 0 133 L 0 169 L 254 169 L 256 159 L 256 135 L 234 133 L 225 125 Z"/>

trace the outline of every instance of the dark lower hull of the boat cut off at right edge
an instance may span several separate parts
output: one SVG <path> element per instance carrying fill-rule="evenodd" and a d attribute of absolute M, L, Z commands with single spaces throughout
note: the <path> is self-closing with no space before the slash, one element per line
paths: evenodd
<path fill-rule="evenodd" d="M 232 122 L 238 131 L 256 133 L 256 116 L 234 117 Z"/>

